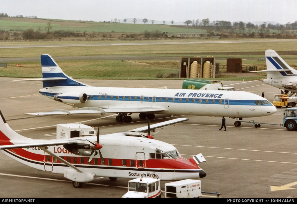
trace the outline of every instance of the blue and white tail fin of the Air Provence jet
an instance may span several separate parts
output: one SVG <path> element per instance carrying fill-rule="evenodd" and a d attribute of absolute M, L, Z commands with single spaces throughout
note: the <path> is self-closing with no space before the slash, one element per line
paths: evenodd
<path fill-rule="evenodd" d="M 43 87 L 55 86 L 89 86 L 83 84 L 64 73 L 56 61 L 48 54 L 41 55 Z"/>

